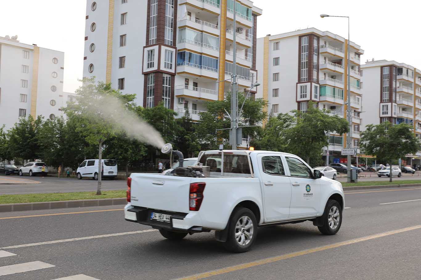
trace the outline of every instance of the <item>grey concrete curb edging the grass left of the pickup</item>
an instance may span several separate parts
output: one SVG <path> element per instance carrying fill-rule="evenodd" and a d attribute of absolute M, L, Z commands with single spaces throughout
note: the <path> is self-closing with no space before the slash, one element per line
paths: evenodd
<path fill-rule="evenodd" d="M 13 203 L 13 204 L 0 204 L 0 212 L 61 209 L 61 208 L 88 207 L 88 206 L 123 205 L 126 203 L 127 203 L 126 198 L 104 198 L 104 199 L 67 200 L 67 201 L 33 202 L 33 203 Z"/>

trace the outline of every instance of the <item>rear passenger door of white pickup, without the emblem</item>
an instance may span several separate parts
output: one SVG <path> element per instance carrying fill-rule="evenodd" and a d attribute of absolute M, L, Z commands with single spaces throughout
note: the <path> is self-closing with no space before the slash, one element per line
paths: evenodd
<path fill-rule="evenodd" d="M 291 202 L 291 182 L 279 154 L 258 156 L 264 198 L 264 220 L 275 222 L 288 218 Z"/>

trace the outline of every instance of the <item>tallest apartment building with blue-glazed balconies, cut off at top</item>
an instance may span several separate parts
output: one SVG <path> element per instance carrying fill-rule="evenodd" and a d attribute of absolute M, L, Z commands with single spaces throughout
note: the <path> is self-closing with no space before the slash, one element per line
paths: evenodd
<path fill-rule="evenodd" d="M 87 1 L 84 77 L 135 93 L 137 104 L 199 120 L 205 102 L 231 90 L 233 32 L 239 90 L 256 80 L 257 16 L 249 0 Z M 255 93 L 255 92 L 254 92 Z"/>

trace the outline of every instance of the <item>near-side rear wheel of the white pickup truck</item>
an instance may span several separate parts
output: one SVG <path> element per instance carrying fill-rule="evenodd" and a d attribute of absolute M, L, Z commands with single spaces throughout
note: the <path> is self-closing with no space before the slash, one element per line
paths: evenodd
<path fill-rule="evenodd" d="M 248 208 L 237 208 L 228 222 L 228 238 L 224 243 L 227 250 L 244 253 L 250 250 L 257 237 L 257 220 Z"/>

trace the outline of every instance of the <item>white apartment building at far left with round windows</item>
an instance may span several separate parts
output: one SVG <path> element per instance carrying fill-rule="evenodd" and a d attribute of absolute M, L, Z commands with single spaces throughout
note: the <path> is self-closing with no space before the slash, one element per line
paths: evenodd
<path fill-rule="evenodd" d="M 63 66 L 63 52 L 0 37 L 0 126 L 10 129 L 29 115 L 62 116 L 74 96 L 63 92 Z"/>

